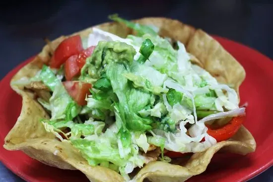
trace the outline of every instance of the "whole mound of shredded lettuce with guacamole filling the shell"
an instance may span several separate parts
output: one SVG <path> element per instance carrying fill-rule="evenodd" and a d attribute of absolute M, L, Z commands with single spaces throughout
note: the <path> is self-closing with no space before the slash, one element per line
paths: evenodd
<path fill-rule="evenodd" d="M 93 85 L 87 105 L 77 105 L 49 67 L 35 77 L 53 92 L 49 102 L 38 99 L 51 113 L 42 120 L 46 130 L 71 142 L 91 166 L 115 170 L 128 181 L 144 165 L 150 145 L 161 149 L 164 160 L 164 149 L 200 152 L 215 144 L 197 120 L 237 109 L 236 92 L 193 65 L 181 42 L 176 50 L 151 26 L 110 19 L 138 34 L 124 39 L 93 29 L 87 44 L 96 48 L 78 77 Z M 187 125 L 196 126 L 190 134 Z"/>

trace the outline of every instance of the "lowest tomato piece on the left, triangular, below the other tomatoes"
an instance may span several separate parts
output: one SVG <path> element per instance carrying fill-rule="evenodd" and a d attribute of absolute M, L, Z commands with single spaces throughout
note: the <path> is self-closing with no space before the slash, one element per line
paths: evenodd
<path fill-rule="evenodd" d="M 65 81 L 63 84 L 67 89 L 68 94 L 78 105 L 84 106 L 87 104 L 85 97 L 90 94 L 89 89 L 92 88 L 92 84 L 82 81 Z"/>

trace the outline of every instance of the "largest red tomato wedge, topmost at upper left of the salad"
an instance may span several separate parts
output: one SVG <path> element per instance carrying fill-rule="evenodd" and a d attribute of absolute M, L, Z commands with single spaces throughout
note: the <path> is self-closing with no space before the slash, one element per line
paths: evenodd
<path fill-rule="evenodd" d="M 67 38 L 57 47 L 51 61 L 50 67 L 60 68 L 60 66 L 68 60 L 70 56 L 78 55 L 83 50 L 81 38 L 75 35 Z"/>

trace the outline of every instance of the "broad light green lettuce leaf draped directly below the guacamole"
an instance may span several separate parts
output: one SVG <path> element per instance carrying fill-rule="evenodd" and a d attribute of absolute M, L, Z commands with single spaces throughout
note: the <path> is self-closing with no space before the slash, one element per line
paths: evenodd
<path fill-rule="evenodd" d="M 151 129 L 151 119 L 141 118 L 136 115 L 136 112 L 150 104 L 151 94 L 136 89 L 125 77 L 120 76 L 127 72 L 128 70 L 124 64 L 115 62 L 110 63 L 106 70 L 113 91 L 119 99 L 117 109 L 121 113 L 122 122 L 131 130 L 145 131 Z"/>

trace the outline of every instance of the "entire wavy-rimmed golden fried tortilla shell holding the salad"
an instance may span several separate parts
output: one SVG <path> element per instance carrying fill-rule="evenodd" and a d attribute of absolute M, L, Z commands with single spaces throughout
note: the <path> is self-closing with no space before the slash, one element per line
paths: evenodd
<path fill-rule="evenodd" d="M 238 88 L 245 78 L 245 70 L 223 47 L 204 31 L 167 18 L 142 18 L 135 20 L 140 24 L 152 24 L 159 28 L 159 35 L 172 40 L 181 41 L 192 55 L 191 61 L 205 68 L 220 83 Z M 95 26 L 104 31 L 126 37 L 135 34 L 132 29 L 120 23 L 104 23 Z M 74 33 L 88 36 L 92 27 Z M 80 152 L 69 142 L 61 142 L 55 135 L 46 132 L 40 119 L 49 118 L 46 111 L 35 100 L 37 90 L 43 91 L 39 97 L 45 96 L 46 89 L 38 83 L 20 80 L 33 77 L 43 64 L 48 64 L 53 51 L 66 38 L 60 38 L 47 44 L 36 58 L 20 69 L 12 78 L 10 85 L 23 98 L 21 114 L 14 127 L 5 137 L 4 148 L 7 150 L 22 150 L 30 157 L 49 166 L 61 169 L 80 170 L 92 182 L 123 182 L 124 179 L 115 171 L 96 166 L 91 167 L 81 156 Z M 47 96 L 48 97 L 48 96 Z M 195 153 L 183 166 L 179 163 L 169 164 L 152 161 L 144 166 L 135 176 L 136 182 L 145 178 L 152 182 L 184 182 L 192 176 L 203 173 L 214 153 L 219 150 L 245 155 L 254 152 L 256 142 L 251 133 L 242 126 L 228 141 L 222 141 L 204 152 Z"/>

